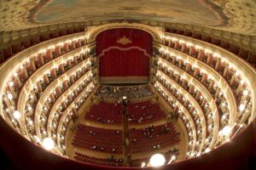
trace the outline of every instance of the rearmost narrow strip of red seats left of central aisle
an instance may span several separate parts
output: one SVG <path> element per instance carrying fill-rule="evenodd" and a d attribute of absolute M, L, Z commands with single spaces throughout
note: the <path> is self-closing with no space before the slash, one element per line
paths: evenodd
<path fill-rule="evenodd" d="M 104 158 L 85 156 L 84 154 L 75 152 L 74 159 L 76 161 L 84 161 L 87 163 L 104 165 L 104 166 L 114 166 L 114 167 L 123 166 L 123 158 L 114 158 L 113 156 L 110 156 L 109 158 L 104 159 Z"/>

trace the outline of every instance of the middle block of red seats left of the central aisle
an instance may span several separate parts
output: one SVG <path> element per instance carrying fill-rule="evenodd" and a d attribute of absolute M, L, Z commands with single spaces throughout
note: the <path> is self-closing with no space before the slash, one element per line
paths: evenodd
<path fill-rule="evenodd" d="M 123 152 L 123 132 L 79 124 L 72 144 L 79 148 L 119 154 Z"/>

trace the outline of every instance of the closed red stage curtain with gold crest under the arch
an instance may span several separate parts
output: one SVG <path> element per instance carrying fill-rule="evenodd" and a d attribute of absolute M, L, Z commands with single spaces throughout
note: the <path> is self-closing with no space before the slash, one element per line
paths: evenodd
<path fill-rule="evenodd" d="M 152 37 L 129 28 L 102 31 L 96 37 L 96 55 L 100 77 L 148 77 Z"/>

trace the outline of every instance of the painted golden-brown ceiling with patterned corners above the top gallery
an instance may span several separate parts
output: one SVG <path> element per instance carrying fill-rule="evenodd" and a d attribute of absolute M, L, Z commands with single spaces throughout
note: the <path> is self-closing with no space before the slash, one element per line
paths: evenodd
<path fill-rule="evenodd" d="M 87 20 L 158 20 L 256 35 L 256 0 L 0 0 L 0 31 Z"/>

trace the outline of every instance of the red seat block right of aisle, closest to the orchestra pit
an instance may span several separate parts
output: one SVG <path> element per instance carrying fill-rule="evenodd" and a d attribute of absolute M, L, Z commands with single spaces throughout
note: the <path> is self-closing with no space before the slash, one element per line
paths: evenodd
<path fill-rule="evenodd" d="M 150 101 L 128 104 L 128 115 L 130 124 L 155 122 L 166 117 L 160 106 Z"/>

